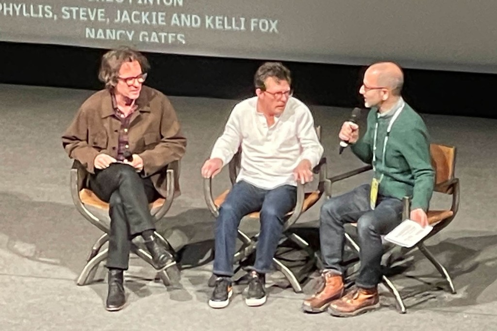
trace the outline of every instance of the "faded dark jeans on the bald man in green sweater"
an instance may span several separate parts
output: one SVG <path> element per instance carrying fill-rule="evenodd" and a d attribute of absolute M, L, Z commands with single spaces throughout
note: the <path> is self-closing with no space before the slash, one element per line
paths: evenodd
<path fill-rule="evenodd" d="M 402 201 L 379 196 L 375 209 L 369 205 L 371 185 L 332 197 L 321 207 L 320 241 L 325 270 L 343 274 L 343 226 L 357 222 L 359 259 L 361 266 L 355 283 L 362 288 L 373 288 L 381 281 L 381 236 L 392 231 L 402 220 Z"/>

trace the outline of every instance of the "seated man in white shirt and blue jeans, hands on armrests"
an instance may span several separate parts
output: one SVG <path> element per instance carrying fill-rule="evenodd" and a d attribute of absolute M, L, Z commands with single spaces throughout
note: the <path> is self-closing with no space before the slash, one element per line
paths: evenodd
<path fill-rule="evenodd" d="M 242 149 L 237 182 L 216 221 L 212 308 L 229 304 L 238 226 L 245 215 L 259 210 L 260 235 L 246 303 L 265 303 L 265 274 L 271 269 L 284 216 L 295 207 L 297 181 L 312 180 L 312 168 L 323 154 L 311 111 L 292 97 L 290 84 L 290 71 L 281 63 L 259 67 L 254 77 L 256 96 L 233 108 L 223 135 L 202 166 L 202 176 L 213 177 Z"/>

